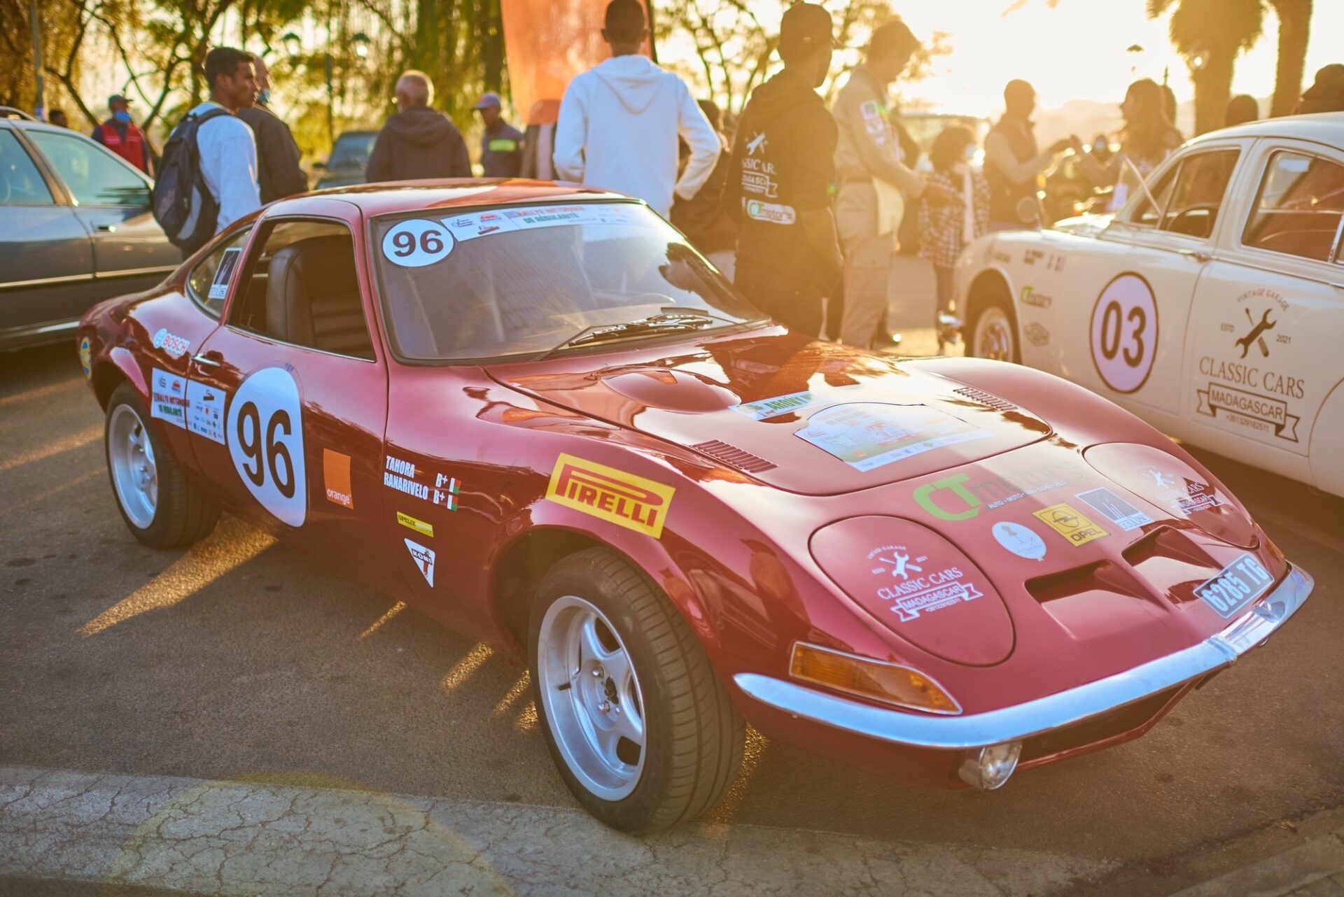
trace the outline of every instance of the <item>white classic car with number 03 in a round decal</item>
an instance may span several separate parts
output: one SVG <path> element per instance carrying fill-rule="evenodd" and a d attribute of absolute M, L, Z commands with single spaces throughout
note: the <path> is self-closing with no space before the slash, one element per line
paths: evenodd
<path fill-rule="evenodd" d="M 1204 134 L 1133 193 L 968 246 L 966 353 L 1344 495 L 1344 113 Z"/>

